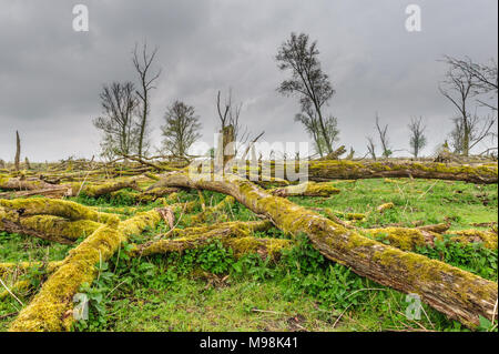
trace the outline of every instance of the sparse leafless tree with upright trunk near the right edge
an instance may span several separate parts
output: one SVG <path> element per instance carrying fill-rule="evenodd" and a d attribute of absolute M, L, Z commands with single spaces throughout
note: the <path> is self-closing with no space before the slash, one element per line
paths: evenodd
<path fill-rule="evenodd" d="M 466 67 L 449 57 L 446 58 L 446 62 L 449 69 L 439 90 L 458 111 L 458 115 L 454 119 L 455 125 L 450 138 L 456 152 L 468 156 L 470 150 L 490 134 L 496 120 L 493 117 L 480 119 L 476 113 L 472 115 L 469 112 L 469 100 L 477 95 L 485 84 L 477 81 L 473 67 Z M 456 146 L 457 143 L 460 146 Z"/>

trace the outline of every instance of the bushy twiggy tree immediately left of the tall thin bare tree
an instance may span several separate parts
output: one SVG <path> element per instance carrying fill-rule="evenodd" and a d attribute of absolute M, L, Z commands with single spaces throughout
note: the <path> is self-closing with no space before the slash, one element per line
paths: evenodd
<path fill-rule="evenodd" d="M 104 133 L 101 143 L 106 156 L 128 156 L 139 151 L 140 130 L 134 111 L 139 104 L 132 82 L 104 85 L 100 94 L 103 115 L 93 124 Z"/>

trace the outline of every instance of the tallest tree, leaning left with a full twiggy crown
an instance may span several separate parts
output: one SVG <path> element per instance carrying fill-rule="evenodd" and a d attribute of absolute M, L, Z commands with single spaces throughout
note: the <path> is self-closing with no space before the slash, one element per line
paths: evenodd
<path fill-rule="evenodd" d="M 328 135 L 323 107 L 333 97 L 335 90 L 328 75 L 320 68 L 318 54 L 317 42 L 309 43 L 308 36 L 305 33 L 292 33 L 291 39 L 281 45 L 276 55 L 278 68 L 283 71 L 292 71 L 292 78 L 283 81 L 278 91 L 285 95 L 297 94 L 303 112 L 306 112 L 306 105 L 312 104 L 326 152 L 332 153 L 333 141 Z"/>

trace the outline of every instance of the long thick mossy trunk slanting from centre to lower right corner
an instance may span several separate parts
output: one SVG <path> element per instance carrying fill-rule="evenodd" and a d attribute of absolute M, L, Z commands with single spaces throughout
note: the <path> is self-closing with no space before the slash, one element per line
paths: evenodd
<path fill-rule="evenodd" d="M 327 259 L 349 266 L 355 273 L 405 293 L 416 293 L 434 309 L 468 326 L 479 324 L 479 316 L 497 317 L 495 304 L 498 285 L 475 274 L 426 256 L 361 236 L 344 226 L 273 196 L 235 175 L 176 173 L 155 186 L 205 189 L 234 196 L 256 214 L 266 215 L 274 224 L 294 235 L 306 234 Z"/>

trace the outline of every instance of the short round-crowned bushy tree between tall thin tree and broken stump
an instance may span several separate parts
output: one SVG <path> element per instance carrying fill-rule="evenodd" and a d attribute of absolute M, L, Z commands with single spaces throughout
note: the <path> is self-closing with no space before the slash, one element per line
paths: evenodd
<path fill-rule="evenodd" d="M 191 145 L 201 138 L 201 123 L 194 107 L 175 101 L 164 114 L 163 145 L 172 155 L 186 158 Z"/>

